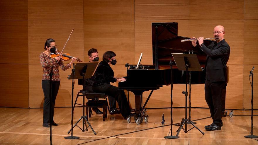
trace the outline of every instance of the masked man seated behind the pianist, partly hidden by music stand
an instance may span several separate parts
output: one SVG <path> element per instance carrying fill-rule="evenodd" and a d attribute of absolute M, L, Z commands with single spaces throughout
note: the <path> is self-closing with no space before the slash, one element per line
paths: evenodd
<path fill-rule="evenodd" d="M 98 62 L 99 61 L 99 54 L 98 54 L 98 50 L 95 48 L 91 48 L 88 51 L 88 55 L 89 55 L 89 62 Z M 94 76 L 92 76 L 90 79 L 85 79 L 84 80 L 84 90 L 87 90 L 89 92 L 93 92 L 92 90 L 92 84 L 94 81 Z M 108 96 L 108 102 L 110 105 L 110 114 L 119 114 L 121 113 L 120 110 L 116 109 L 116 100 L 110 96 Z M 97 107 L 93 107 L 92 110 L 94 112 L 96 112 L 96 114 L 102 114 L 103 112 L 101 112 Z"/>

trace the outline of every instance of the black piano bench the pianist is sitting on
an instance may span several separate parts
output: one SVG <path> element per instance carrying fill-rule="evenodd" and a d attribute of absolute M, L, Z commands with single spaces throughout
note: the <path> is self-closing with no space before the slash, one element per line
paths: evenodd
<path fill-rule="evenodd" d="M 95 93 L 95 92 L 86 93 L 86 98 L 88 99 L 88 102 L 86 103 L 86 115 L 91 117 L 91 113 L 89 113 L 89 110 L 91 110 L 92 107 L 103 107 L 103 121 L 105 121 L 105 118 L 108 117 L 107 108 L 109 112 L 108 101 L 106 97 L 107 95 L 104 93 Z M 105 99 L 105 100 L 102 100 L 102 99 Z"/>

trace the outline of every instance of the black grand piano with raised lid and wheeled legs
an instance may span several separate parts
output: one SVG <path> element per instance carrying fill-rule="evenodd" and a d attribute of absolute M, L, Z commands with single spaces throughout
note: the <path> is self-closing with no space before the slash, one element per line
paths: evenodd
<path fill-rule="evenodd" d="M 153 52 L 153 66 L 148 66 L 149 69 L 131 69 L 127 70 L 127 77 L 125 82 L 119 82 L 118 88 L 131 91 L 135 95 L 135 122 L 139 125 L 143 120 L 148 122 L 148 115 L 146 115 L 145 106 L 154 90 L 158 90 L 163 85 L 170 85 L 172 83 L 183 84 L 186 83 L 186 73 L 179 71 L 175 65 L 171 53 L 193 53 L 197 54 L 200 65 L 205 68 L 206 54 L 199 49 L 193 48 L 191 42 L 181 42 L 189 37 L 182 37 L 177 35 L 178 23 L 152 23 L 152 52 Z M 204 44 L 208 46 L 212 40 L 204 40 Z M 172 65 L 171 76 L 171 63 Z M 153 68 L 153 69 L 151 69 Z M 191 84 L 200 84 L 205 82 L 205 71 L 192 72 Z M 142 93 L 149 91 L 145 104 L 142 106 Z M 170 97 L 170 96 L 168 96 Z M 130 117 L 127 122 L 130 123 Z"/>

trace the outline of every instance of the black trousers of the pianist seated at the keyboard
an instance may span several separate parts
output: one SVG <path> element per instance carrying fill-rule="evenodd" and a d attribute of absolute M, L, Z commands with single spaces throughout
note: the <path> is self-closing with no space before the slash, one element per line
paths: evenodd
<path fill-rule="evenodd" d="M 92 86 L 92 89 L 94 92 L 106 93 L 108 96 L 113 97 L 118 102 L 122 116 L 127 117 L 130 114 L 131 109 L 123 90 L 119 90 L 118 87 L 112 86 L 110 84 Z"/>

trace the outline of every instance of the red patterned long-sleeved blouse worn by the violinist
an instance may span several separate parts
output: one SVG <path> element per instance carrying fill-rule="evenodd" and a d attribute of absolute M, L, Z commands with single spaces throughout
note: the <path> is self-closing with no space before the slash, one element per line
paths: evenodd
<path fill-rule="evenodd" d="M 57 60 L 55 58 L 51 58 L 45 53 L 40 53 L 40 63 L 43 67 L 43 75 L 42 75 L 42 80 L 50 80 L 49 73 L 51 72 L 51 66 L 53 66 L 53 75 L 52 75 L 52 81 L 60 81 L 60 76 L 59 76 L 59 70 L 58 70 L 58 65 L 61 67 L 63 71 L 71 68 L 70 64 L 64 65 L 62 60 L 57 63 Z"/>

